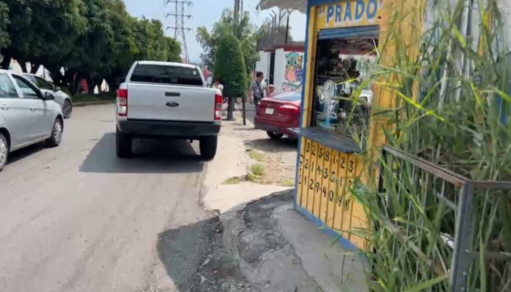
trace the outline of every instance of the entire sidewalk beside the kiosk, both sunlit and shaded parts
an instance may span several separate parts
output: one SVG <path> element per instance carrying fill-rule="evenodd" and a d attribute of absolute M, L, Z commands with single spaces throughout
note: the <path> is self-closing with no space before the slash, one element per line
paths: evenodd
<path fill-rule="evenodd" d="M 235 118 L 222 122 L 201 188 L 210 219 L 158 236 L 159 258 L 176 288 L 368 290 L 360 257 L 293 209 L 296 141 L 270 140 L 249 121 L 242 126 L 240 111 Z"/>

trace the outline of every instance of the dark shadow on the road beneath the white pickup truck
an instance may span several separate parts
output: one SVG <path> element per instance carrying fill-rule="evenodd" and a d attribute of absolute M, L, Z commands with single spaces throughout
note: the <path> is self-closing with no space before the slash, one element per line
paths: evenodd
<path fill-rule="evenodd" d="M 80 166 L 97 173 L 194 173 L 204 168 L 200 155 L 184 140 L 133 140 L 133 158 L 115 154 L 115 133 L 105 134 Z"/>

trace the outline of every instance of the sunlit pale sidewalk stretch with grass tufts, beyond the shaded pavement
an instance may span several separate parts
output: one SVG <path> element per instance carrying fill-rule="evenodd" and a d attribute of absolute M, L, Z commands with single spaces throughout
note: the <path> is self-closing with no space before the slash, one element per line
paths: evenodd
<path fill-rule="evenodd" d="M 255 129 L 241 111 L 235 121 L 223 121 L 216 158 L 208 163 L 204 178 L 203 203 L 220 213 L 273 192 L 294 187 L 295 140 L 273 141 Z"/>

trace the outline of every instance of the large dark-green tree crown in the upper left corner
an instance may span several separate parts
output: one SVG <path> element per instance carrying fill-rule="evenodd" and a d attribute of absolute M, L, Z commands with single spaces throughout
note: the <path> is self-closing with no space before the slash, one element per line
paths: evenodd
<path fill-rule="evenodd" d="M 73 48 L 87 20 L 82 0 L 4 0 L 9 8 L 9 46 L 2 48 L 8 68 L 11 58 L 32 63 L 32 71 L 46 60 L 58 59 Z M 25 66 L 21 66 L 26 71 Z"/>

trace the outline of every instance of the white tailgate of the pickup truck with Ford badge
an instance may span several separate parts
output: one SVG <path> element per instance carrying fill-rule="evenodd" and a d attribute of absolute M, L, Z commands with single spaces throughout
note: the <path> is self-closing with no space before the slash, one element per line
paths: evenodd
<path fill-rule="evenodd" d="M 128 119 L 213 122 L 215 89 L 166 84 L 128 84 Z"/>

